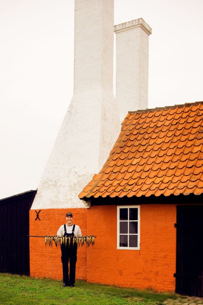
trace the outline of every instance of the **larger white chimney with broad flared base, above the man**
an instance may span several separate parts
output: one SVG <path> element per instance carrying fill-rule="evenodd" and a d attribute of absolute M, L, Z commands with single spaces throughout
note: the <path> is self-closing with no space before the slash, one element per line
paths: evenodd
<path fill-rule="evenodd" d="M 113 0 L 75 0 L 73 98 L 31 209 L 88 207 L 78 194 L 101 169 L 118 136 L 113 13 Z"/>

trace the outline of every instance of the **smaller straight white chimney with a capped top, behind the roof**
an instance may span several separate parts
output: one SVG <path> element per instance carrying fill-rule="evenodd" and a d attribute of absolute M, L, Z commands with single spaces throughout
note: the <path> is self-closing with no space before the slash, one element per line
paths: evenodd
<path fill-rule="evenodd" d="M 151 27 L 142 19 L 114 26 L 116 102 L 121 122 L 130 110 L 148 107 L 148 58 Z"/>

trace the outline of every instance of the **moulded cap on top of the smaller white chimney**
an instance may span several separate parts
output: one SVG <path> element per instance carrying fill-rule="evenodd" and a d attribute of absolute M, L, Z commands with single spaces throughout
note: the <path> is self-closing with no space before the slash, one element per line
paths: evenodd
<path fill-rule="evenodd" d="M 141 27 L 148 35 L 152 33 L 152 28 L 142 18 L 120 23 L 114 26 L 114 32 L 117 34 L 126 30 Z"/>

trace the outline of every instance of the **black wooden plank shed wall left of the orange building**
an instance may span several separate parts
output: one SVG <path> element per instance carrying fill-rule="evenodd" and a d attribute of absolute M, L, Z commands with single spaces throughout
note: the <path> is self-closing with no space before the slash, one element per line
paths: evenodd
<path fill-rule="evenodd" d="M 0 200 L 0 272 L 30 274 L 29 210 L 36 191 Z"/>

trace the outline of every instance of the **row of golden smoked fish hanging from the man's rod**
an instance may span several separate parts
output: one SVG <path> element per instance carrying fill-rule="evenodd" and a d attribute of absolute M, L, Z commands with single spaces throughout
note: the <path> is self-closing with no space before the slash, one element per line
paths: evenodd
<path fill-rule="evenodd" d="M 73 240 L 71 242 L 71 239 Z M 52 244 L 55 244 L 55 246 L 73 246 L 75 243 L 77 244 L 78 247 L 81 247 L 86 245 L 89 247 L 90 245 L 94 246 L 94 240 L 95 236 L 90 235 L 90 236 L 81 236 L 81 237 L 67 237 L 67 236 L 55 236 L 55 235 L 45 235 L 45 246 L 52 246 Z"/>

